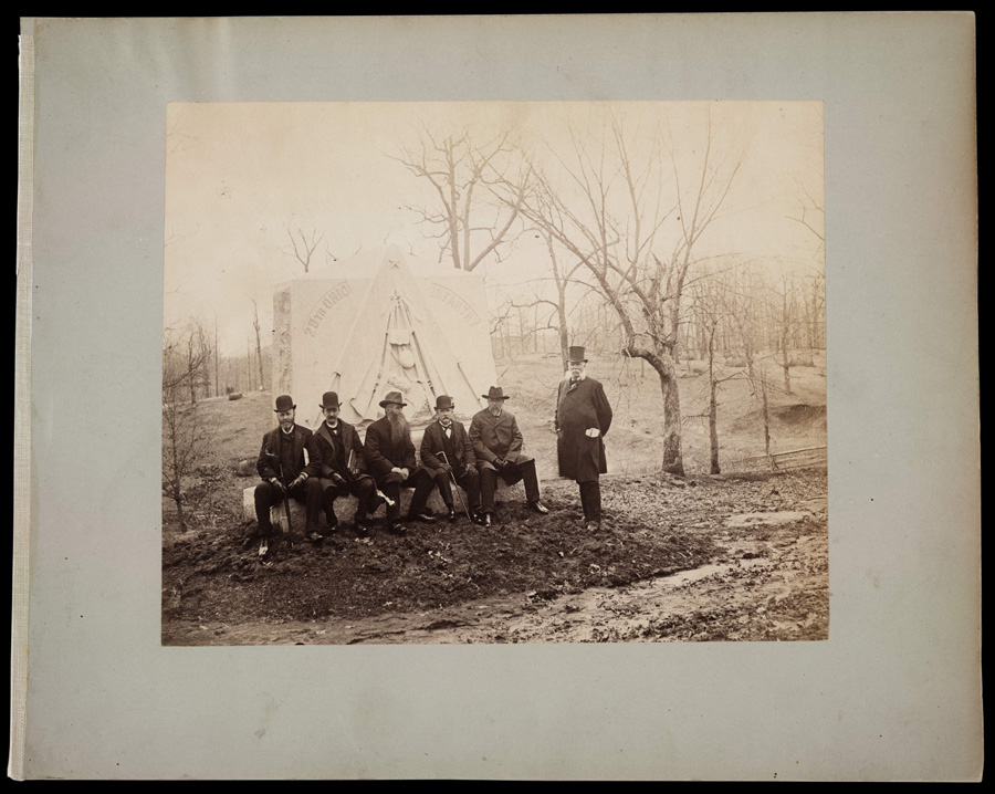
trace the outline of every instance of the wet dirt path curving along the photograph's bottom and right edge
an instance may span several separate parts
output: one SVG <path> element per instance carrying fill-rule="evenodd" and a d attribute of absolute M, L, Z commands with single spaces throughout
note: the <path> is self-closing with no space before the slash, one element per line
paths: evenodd
<path fill-rule="evenodd" d="M 712 527 L 714 532 L 714 527 Z M 621 587 L 536 593 L 419 613 L 314 621 L 164 625 L 168 645 L 353 645 L 827 639 L 825 500 L 730 516 L 708 565 Z"/>

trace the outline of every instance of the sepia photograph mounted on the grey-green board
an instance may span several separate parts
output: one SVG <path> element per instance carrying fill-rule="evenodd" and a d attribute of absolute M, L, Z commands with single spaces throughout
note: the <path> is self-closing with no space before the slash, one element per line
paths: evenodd
<path fill-rule="evenodd" d="M 168 104 L 161 642 L 828 639 L 823 127 Z"/>

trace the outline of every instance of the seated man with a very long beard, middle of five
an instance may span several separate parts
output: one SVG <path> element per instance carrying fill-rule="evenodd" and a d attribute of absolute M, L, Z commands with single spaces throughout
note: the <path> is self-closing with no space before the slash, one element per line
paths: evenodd
<path fill-rule="evenodd" d="M 415 461 L 415 445 L 411 428 L 405 418 L 407 405 L 400 391 L 390 391 L 380 400 L 387 416 L 377 419 L 366 428 L 366 467 L 387 497 L 387 531 L 401 534 L 406 530 L 398 523 L 400 512 L 400 489 L 413 488 L 408 521 L 434 521 L 426 512 L 425 505 L 432 492 L 432 478 Z"/>

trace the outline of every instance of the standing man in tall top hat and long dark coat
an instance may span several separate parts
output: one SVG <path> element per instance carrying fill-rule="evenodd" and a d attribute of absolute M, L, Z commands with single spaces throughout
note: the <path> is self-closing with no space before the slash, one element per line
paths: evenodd
<path fill-rule="evenodd" d="M 601 525 L 601 485 L 608 471 L 605 441 L 611 427 L 611 406 L 600 383 L 587 376 L 583 347 L 570 347 L 566 377 L 556 396 L 556 456 L 559 476 L 576 480 L 588 530 Z"/>

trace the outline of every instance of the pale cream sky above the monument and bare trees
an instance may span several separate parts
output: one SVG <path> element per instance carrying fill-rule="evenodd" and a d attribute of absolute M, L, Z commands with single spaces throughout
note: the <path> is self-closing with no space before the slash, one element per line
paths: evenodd
<path fill-rule="evenodd" d="M 325 234 L 312 265 L 316 275 L 329 262 L 326 251 L 347 261 L 360 247 L 396 243 L 437 259 L 436 243 L 406 209 L 430 206 L 432 189 L 388 157 L 417 146 L 419 125 L 443 133 L 468 127 L 475 140 L 510 129 L 555 173 L 555 155 L 570 150 L 569 130 L 597 137 L 609 112 L 629 135 L 635 161 L 649 157 L 654 130 L 673 140 L 682 186 L 700 163 L 709 112 L 718 130 L 713 153 L 745 152 L 723 218 L 699 253 L 821 269 L 817 238 L 787 217 L 798 217 L 805 191 L 821 202 L 820 103 L 174 103 L 166 138 L 166 324 L 197 316 L 213 327 L 217 317 L 222 353 L 242 352 L 254 299 L 266 338 L 273 285 L 303 275 L 281 252 L 291 223 Z M 504 262 L 478 272 L 513 291 L 544 274 L 546 262 L 545 247 L 523 238 Z"/>

